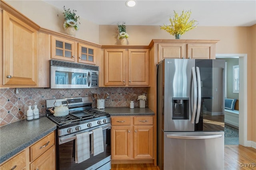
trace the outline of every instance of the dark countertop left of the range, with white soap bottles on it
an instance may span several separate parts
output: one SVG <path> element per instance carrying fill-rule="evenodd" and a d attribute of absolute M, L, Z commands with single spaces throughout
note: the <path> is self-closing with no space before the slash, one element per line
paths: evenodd
<path fill-rule="evenodd" d="M 47 117 L 22 119 L 0 127 L 0 163 L 42 139 L 56 129 Z"/>

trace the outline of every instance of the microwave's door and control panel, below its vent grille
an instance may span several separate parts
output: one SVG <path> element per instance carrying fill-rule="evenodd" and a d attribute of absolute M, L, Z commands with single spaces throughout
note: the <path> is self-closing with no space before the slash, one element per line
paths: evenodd
<path fill-rule="evenodd" d="M 92 85 L 93 88 L 98 87 L 98 71 L 93 71 L 94 75 L 91 75 L 91 70 L 50 66 L 50 72 L 51 88 L 91 88 Z"/>

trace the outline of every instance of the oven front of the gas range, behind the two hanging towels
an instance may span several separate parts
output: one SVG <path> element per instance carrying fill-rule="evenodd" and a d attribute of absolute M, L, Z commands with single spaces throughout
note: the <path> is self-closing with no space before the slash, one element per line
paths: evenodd
<path fill-rule="evenodd" d="M 98 128 L 98 127 L 96 127 Z M 81 163 L 75 162 L 76 155 L 76 134 L 60 137 L 56 147 L 56 163 L 57 170 L 110 170 L 111 169 L 111 146 L 110 146 L 110 129 L 111 124 L 107 123 L 102 125 L 103 130 L 103 143 L 104 152 L 93 156 L 90 153 L 90 158 Z M 89 131 L 90 136 L 90 152 L 91 152 L 91 134 L 92 129 Z M 83 133 L 81 131 L 79 133 Z"/>

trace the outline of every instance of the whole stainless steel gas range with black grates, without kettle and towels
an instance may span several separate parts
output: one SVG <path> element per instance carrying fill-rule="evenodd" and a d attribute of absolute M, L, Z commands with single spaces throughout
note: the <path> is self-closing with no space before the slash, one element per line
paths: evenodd
<path fill-rule="evenodd" d="M 54 102 L 68 104 L 69 113 L 66 116 L 56 117 L 49 109 L 54 109 Z M 56 168 L 57 170 L 110 170 L 110 114 L 92 108 L 92 98 L 64 98 L 46 100 L 46 117 L 57 125 L 56 133 Z M 91 134 L 93 129 L 102 127 L 104 152 L 93 156 L 81 163 L 75 163 L 76 135 L 84 132 Z M 90 142 L 91 151 L 91 142 Z"/>

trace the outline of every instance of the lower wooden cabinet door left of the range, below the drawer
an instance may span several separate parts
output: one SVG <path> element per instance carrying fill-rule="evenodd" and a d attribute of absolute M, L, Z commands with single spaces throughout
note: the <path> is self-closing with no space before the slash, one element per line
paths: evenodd
<path fill-rule="evenodd" d="M 55 146 L 36 158 L 30 164 L 30 170 L 55 170 Z"/>

